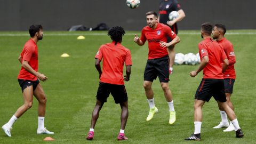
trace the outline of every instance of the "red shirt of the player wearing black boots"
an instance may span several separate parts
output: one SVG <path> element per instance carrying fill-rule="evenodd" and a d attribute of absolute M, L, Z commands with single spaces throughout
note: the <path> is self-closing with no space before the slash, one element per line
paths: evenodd
<path fill-rule="evenodd" d="M 205 56 L 209 57 L 203 69 L 203 78 L 223 79 L 221 63 L 227 59 L 223 47 L 211 38 L 206 38 L 198 44 L 198 49 L 201 60 Z"/>

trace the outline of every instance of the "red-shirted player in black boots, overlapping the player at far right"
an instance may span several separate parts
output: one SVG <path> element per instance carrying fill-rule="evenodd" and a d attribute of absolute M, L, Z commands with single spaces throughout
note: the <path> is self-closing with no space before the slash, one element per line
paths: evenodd
<path fill-rule="evenodd" d="M 203 70 L 204 76 L 195 94 L 195 131 L 185 140 L 201 140 L 202 108 L 205 101 L 209 102 L 212 96 L 227 113 L 231 123 L 233 123 L 236 130 L 236 137 L 242 138 L 244 136 L 234 111 L 228 106 L 224 92 L 222 70 L 227 68 L 228 59 L 222 46 L 211 39 L 211 34 L 212 24 L 209 22 L 203 23 L 201 25 L 201 36 L 204 40 L 198 44 L 201 63 L 197 70 L 190 72 L 190 76 L 195 77 L 201 70 Z M 222 62 L 224 62 L 223 68 L 221 66 Z"/>

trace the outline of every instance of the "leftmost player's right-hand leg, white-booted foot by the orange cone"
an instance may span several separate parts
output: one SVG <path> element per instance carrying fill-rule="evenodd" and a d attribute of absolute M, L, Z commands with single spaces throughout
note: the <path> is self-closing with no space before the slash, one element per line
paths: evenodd
<path fill-rule="evenodd" d="M 38 101 L 38 127 L 37 127 L 37 134 L 54 134 L 54 132 L 46 130 L 44 126 L 44 116 L 46 110 L 46 96 L 43 90 L 42 85 L 38 82 L 34 84 L 34 95 Z"/>

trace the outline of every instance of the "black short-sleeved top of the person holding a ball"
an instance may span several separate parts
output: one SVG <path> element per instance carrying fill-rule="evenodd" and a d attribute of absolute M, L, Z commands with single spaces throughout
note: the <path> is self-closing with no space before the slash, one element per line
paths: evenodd
<path fill-rule="evenodd" d="M 167 25 L 167 21 L 169 21 L 169 14 L 172 11 L 179 11 L 181 10 L 181 6 L 177 0 L 161 0 L 159 3 L 159 22 L 164 23 Z M 175 34 L 178 34 L 178 27 L 177 23 L 171 26 L 171 29 L 174 31 Z"/>

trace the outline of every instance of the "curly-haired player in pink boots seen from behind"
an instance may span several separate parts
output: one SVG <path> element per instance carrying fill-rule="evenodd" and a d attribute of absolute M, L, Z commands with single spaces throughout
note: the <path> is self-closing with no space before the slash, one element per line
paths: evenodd
<path fill-rule="evenodd" d="M 92 111 L 92 120 L 90 131 L 86 137 L 92 140 L 94 137 L 94 126 L 99 118 L 100 110 L 111 93 L 115 103 L 119 103 L 122 109 L 121 113 L 121 129 L 117 140 L 127 140 L 124 135 L 124 129 L 128 118 L 128 98 L 124 86 L 124 81 L 130 80 L 131 74 L 131 52 L 129 49 L 121 45 L 122 37 L 125 31 L 122 27 L 112 27 L 108 31 L 111 37 L 111 43 L 100 46 L 99 51 L 95 55 L 95 67 L 99 72 L 100 84 L 97 92 L 97 100 L 94 110 Z M 103 59 L 103 67 L 101 71 L 100 62 Z M 126 75 L 123 78 L 123 67 L 126 66 Z"/>

